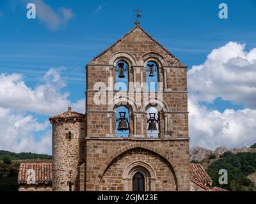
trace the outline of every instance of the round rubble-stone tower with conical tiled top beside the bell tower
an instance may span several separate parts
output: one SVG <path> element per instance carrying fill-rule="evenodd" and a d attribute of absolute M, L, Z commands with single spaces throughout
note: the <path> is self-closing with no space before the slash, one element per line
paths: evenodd
<path fill-rule="evenodd" d="M 68 111 L 50 117 L 52 124 L 52 190 L 79 191 L 84 163 L 84 114 Z"/>

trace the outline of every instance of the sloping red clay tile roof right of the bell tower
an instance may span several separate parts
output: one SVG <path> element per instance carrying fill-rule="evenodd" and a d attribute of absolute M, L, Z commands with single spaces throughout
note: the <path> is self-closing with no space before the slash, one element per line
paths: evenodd
<path fill-rule="evenodd" d="M 212 179 L 204 170 L 201 164 L 189 164 L 189 170 L 191 172 L 191 179 L 204 184 L 205 186 L 212 184 Z"/>

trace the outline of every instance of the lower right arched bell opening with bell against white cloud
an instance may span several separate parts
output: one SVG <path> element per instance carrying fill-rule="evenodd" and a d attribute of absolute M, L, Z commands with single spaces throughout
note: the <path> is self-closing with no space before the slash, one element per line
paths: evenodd
<path fill-rule="evenodd" d="M 159 114 L 154 106 L 147 108 L 147 136 L 159 137 Z"/>

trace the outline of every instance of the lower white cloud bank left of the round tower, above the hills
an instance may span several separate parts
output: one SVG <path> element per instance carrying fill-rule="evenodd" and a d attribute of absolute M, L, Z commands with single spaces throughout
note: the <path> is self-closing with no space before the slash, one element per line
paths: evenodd
<path fill-rule="evenodd" d="M 32 115 L 13 112 L 0 107 L 0 149 L 12 152 L 51 154 L 51 132 L 43 132 L 40 140 L 35 134 L 49 128 L 49 122 L 37 122 Z"/>

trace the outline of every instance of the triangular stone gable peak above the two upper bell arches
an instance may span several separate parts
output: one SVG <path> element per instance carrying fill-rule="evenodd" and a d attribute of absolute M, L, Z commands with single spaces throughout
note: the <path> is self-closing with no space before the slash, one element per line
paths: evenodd
<path fill-rule="evenodd" d="M 152 38 L 140 26 L 134 27 L 129 33 L 108 47 L 104 52 L 97 55 L 89 64 L 109 64 L 115 55 L 131 55 L 134 59 L 133 66 L 144 66 L 144 62 L 149 58 L 157 58 L 161 66 L 179 66 L 185 65 L 179 61 L 166 48 Z"/>

